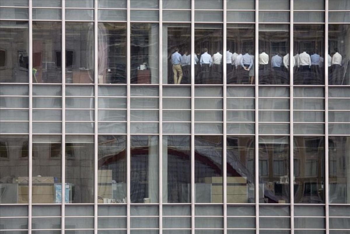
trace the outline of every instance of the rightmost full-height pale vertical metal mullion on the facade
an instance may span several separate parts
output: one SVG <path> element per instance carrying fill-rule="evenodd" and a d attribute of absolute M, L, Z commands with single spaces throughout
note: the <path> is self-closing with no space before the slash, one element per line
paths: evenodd
<path fill-rule="evenodd" d="M 328 0 L 325 0 L 324 12 L 324 199 L 325 227 L 329 234 L 329 160 L 328 160 Z"/>

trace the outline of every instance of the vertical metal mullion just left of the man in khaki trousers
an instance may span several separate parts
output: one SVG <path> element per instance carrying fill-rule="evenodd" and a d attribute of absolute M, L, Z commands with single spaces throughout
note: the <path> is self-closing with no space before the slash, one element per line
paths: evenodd
<path fill-rule="evenodd" d="M 163 229 L 163 65 L 162 65 L 162 47 L 163 47 L 163 2 L 159 1 L 159 233 L 162 234 Z"/>

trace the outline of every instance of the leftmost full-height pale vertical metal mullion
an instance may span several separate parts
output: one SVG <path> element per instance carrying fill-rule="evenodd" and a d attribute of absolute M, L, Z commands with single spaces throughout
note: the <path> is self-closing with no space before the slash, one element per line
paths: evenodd
<path fill-rule="evenodd" d="M 33 165 L 33 14 L 32 14 L 32 1 L 29 0 L 29 22 L 28 22 L 28 34 L 29 34 L 29 50 L 28 50 L 28 58 L 29 58 L 29 126 L 28 126 L 28 233 L 31 233 L 31 204 L 32 204 L 32 165 Z"/>

